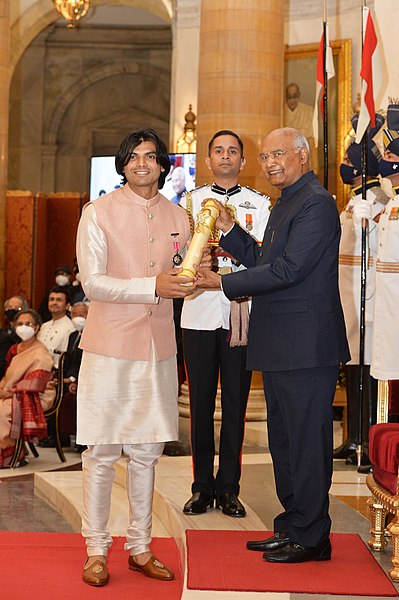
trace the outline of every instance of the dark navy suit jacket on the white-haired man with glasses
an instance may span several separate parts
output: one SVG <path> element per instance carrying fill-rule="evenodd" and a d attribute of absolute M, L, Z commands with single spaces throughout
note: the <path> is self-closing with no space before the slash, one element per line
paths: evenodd
<path fill-rule="evenodd" d="M 235 225 L 220 245 L 246 267 L 222 278 L 232 300 L 252 296 L 247 367 L 282 371 L 350 358 L 338 291 L 341 235 L 333 197 L 313 171 L 285 188 L 261 248 Z"/>

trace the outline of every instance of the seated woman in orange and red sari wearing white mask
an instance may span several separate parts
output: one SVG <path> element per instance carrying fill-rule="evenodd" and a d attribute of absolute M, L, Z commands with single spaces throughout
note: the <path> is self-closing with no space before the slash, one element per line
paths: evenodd
<path fill-rule="evenodd" d="M 53 360 L 36 338 L 40 315 L 28 308 L 19 311 L 14 328 L 21 340 L 7 353 L 7 368 L 0 381 L 0 468 L 10 465 L 16 440 L 34 441 L 46 437 L 44 411 L 55 398 Z M 19 464 L 26 464 L 21 450 Z"/>

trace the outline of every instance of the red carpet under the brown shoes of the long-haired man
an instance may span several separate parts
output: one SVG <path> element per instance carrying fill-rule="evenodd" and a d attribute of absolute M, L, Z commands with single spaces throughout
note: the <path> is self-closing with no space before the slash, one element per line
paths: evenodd
<path fill-rule="evenodd" d="M 0 598 L 4 600 L 180 600 L 182 575 L 175 542 L 154 539 L 154 554 L 170 567 L 174 581 L 155 581 L 127 568 L 124 538 L 114 538 L 108 555 L 109 584 L 82 581 L 85 545 L 75 533 L 0 532 Z"/>

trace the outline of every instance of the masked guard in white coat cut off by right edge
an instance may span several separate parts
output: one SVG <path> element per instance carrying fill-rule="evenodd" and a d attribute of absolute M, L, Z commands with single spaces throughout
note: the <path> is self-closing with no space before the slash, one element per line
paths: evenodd
<path fill-rule="evenodd" d="M 379 380 L 399 379 L 397 306 L 399 302 L 399 104 L 387 109 L 388 128 L 383 131 L 384 156 L 381 177 L 392 185 L 391 197 L 378 220 L 374 326 L 370 373 Z M 355 211 L 357 220 L 373 216 L 368 201 Z M 360 227 L 359 227 L 360 228 Z"/>

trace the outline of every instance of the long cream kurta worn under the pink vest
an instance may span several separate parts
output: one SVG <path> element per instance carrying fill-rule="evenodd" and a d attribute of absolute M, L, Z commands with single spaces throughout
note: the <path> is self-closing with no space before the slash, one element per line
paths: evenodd
<path fill-rule="evenodd" d="M 82 215 L 78 260 L 85 278 L 106 273 L 107 246 L 94 206 Z M 80 249 L 80 250 L 79 250 Z M 110 302 L 119 282 L 102 278 L 101 299 Z M 120 283 L 122 287 L 123 282 Z M 155 277 L 129 281 L 128 303 L 155 304 Z M 150 290 L 151 288 L 151 290 Z M 120 290 L 123 293 L 124 290 Z M 126 290 L 125 290 L 126 292 Z M 89 317 L 90 318 L 90 311 Z M 77 396 L 79 444 L 143 444 L 178 439 L 176 357 L 126 360 L 83 351 Z"/>

